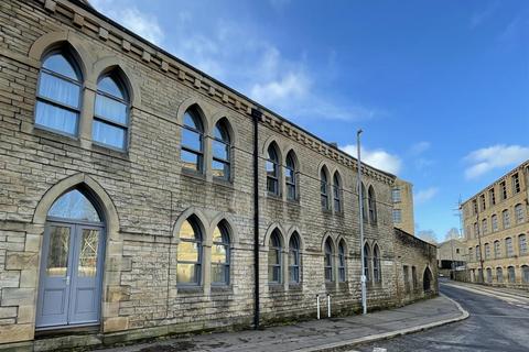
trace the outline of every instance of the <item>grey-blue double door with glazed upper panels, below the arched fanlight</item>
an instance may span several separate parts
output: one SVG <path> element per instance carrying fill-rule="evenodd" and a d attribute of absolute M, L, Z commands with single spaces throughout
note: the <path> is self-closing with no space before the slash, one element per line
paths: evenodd
<path fill-rule="evenodd" d="M 104 228 L 52 222 L 44 232 L 36 328 L 99 322 Z"/>

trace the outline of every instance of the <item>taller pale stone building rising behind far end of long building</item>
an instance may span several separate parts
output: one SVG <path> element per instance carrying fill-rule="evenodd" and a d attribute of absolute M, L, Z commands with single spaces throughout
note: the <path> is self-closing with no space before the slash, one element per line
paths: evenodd
<path fill-rule="evenodd" d="M 393 202 L 393 224 L 397 229 L 415 234 L 415 222 L 413 220 L 413 185 L 396 178 L 391 189 L 391 201 Z"/>

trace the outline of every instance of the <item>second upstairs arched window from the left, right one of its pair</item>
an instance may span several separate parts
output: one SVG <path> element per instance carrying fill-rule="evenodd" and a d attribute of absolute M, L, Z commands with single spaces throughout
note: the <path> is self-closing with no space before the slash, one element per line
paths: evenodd
<path fill-rule="evenodd" d="M 129 125 L 129 98 L 117 73 L 99 78 L 91 138 L 96 143 L 125 150 Z"/>

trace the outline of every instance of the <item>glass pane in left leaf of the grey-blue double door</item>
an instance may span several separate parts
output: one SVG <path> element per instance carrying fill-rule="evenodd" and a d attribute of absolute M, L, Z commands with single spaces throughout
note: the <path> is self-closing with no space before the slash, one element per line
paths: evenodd
<path fill-rule="evenodd" d="M 50 252 L 47 253 L 47 276 L 66 276 L 68 270 L 69 228 L 50 228 Z"/>

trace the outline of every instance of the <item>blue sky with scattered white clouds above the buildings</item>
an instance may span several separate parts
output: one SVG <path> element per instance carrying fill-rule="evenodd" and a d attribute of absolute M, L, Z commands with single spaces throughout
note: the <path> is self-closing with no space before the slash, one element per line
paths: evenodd
<path fill-rule="evenodd" d="M 361 128 L 424 235 L 529 158 L 529 1 L 90 2 L 345 151 Z"/>

